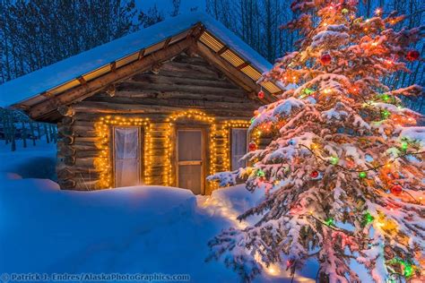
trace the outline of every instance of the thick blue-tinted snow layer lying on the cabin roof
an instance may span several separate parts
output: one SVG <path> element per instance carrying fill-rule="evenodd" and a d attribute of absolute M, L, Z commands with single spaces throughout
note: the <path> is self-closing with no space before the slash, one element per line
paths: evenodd
<path fill-rule="evenodd" d="M 229 47 L 239 55 L 239 59 L 249 62 L 256 69 L 253 71 L 247 66 L 248 68 L 244 72 L 252 80 L 256 81 L 258 73 L 264 73 L 272 68 L 272 64 L 267 62 L 263 56 L 256 53 L 254 49 L 225 28 L 219 21 L 214 20 L 205 13 L 187 13 L 166 21 L 161 21 L 147 29 L 139 30 L 123 38 L 110 41 L 76 56 L 71 56 L 56 64 L 51 64 L 33 73 L 23 75 L 13 81 L 7 81 L 3 85 L 0 85 L 0 106 L 9 107 L 11 105 L 18 105 L 46 91 L 57 94 L 64 90 L 64 87 L 60 86 L 64 86 L 65 84 L 74 87 L 79 83 L 76 81 L 76 78 L 88 76 L 89 73 L 94 73 L 93 71 L 100 70 L 112 62 L 117 62 L 120 59 L 123 60 L 123 58 L 129 57 L 129 55 L 137 53 L 140 50 L 147 50 L 147 48 L 171 37 L 177 38 L 177 35 L 194 28 L 199 23 L 208 31 L 206 38 L 203 39 L 203 36 L 201 36 L 199 40 L 206 42 L 209 40 L 209 35 L 220 39 L 226 47 Z M 212 42 L 212 46 L 210 47 L 219 48 L 220 45 L 216 46 Z M 217 52 L 218 50 L 214 51 Z M 226 59 L 231 64 L 234 64 L 231 58 Z M 242 69 L 242 71 L 244 70 Z M 70 81 L 75 82 L 70 83 Z M 271 93 L 282 90 L 281 85 L 272 82 L 267 82 L 267 85 L 263 86 Z"/>

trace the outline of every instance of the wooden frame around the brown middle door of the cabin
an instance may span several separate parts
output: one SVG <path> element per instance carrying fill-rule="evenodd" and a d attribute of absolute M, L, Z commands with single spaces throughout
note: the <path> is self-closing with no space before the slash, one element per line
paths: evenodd
<path fill-rule="evenodd" d="M 201 194 L 205 194 L 205 178 L 206 178 L 206 169 L 207 169 L 207 155 L 206 155 L 206 138 L 205 138 L 205 134 L 207 133 L 205 127 L 203 125 L 199 125 L 199 126 L 186 126 L 186 125 L 181 125 L 179 126 L 178 124 L 176 124 L 176 146 L 175 146 L 175 156 L 176 159 L 174 161 L 174 167 L 175 172 L 176 172 L 176 186 L 179 187 L 179 182 L 178 182 L 178 167 L 179 167 L 179 161 L 178 161 L 178 131 L 193 131 L 193 132 L 201 132 Z M 190 165 L 190 161 L 182 161 L 185 162 L 186 165 Z"/>

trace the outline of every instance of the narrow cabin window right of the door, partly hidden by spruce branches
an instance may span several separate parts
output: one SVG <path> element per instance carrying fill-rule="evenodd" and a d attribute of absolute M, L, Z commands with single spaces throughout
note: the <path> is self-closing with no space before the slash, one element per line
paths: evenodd
<path fill-rule="evenodd" d="M 231 170 L 246 167 L 247 162 L 240 159 L 247 153 L 247 129 L 231 129 L 230 142 Z"/>

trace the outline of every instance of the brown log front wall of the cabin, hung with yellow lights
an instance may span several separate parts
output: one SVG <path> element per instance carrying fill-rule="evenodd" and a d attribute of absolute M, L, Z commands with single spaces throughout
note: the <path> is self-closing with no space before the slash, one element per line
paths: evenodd
<path fill-rule="evenodd" d="M 182 54 L 155 66 L 153 71 L 137 73 L 110 86 L 108 91 L 62 109 L 66 116 L 58 124 L 59 184 L 61 188 L 75 190 L 114 186 L 113 125 L 132 124 L 143 129 L 145 184 L 177 185 L 175 134 L 176 126 L 182 123 L 202 125 L 207 130 L 210 149 L 206 176 L 228 170 L 226 122 L 249 121 L 261 105 L 250 98 L 252 93 L 239 88 L 197 56 Z M 177 113 L 183 115 L 172 119 Z M 205 193 L 214 188 L 215 184 L 206 184 Z"/>

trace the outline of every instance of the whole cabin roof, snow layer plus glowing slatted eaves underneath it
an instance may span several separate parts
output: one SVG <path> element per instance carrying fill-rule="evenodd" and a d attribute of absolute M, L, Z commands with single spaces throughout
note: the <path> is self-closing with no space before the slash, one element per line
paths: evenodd
<path fill-rule="evenodd" d="M 272 67 L 220 22 L 204 13 L 190 13 L 8 81 L 0 85 L 0 104 L 33 107 L 189 37 L 198 39 L 253 81 Z M 263 86 L 270 93 L 282 90 L 281 85 L 272 82 Z"/>

